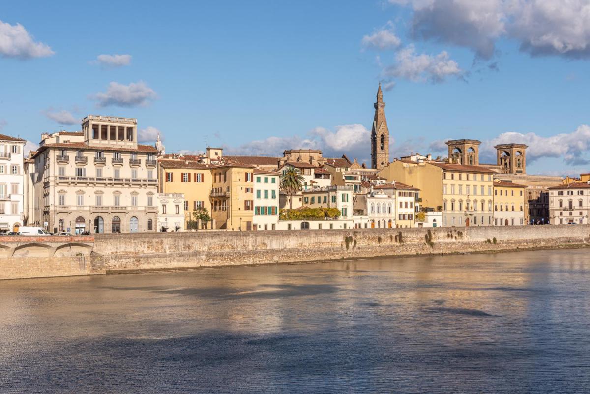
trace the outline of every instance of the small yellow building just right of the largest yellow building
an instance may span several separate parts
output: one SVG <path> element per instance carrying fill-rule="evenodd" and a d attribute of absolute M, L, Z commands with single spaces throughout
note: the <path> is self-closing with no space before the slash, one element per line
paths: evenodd
<path fill-rule="evenodd" d="M 526 224 L 525 212 L 527 186 L 494 180 L 494 225 L 522 226 Z"/>

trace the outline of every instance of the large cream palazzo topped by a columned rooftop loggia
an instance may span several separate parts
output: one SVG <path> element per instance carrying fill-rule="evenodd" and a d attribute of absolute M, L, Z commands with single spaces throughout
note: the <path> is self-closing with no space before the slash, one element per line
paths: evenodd
<path fill-rule="evenodd" d="M 153 146 L 137 119 L 89 115 L 81 133 L 42 134 L 34 160 L 34 217 L 50 232 L 156 231 Z"/>

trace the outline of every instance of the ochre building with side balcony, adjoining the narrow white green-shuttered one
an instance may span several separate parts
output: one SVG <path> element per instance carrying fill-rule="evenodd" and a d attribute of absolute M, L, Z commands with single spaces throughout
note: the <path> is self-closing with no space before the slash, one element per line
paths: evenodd
<path fill-rule="evenodd" d="M 211 216 L 215 228 L 251 230 L 254 214 L 254 167 L 228 164 L 211 169 Z"/>

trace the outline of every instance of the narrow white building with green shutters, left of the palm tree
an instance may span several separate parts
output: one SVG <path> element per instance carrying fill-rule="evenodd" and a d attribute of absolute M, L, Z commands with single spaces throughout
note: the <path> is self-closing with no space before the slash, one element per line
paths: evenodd
<path fill-rule="evenodd" d="M 278 184 L 280 174 L 267 170 L 254 170 L 254 217 L 255 230 L 275 230 L 278 224 Z"/>

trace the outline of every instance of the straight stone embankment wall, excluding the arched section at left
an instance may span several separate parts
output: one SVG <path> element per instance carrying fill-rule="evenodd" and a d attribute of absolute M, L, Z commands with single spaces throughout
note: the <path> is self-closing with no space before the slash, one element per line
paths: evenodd
<path fill-rule="evenodd" d="M 226 265 L 449 254 L 590 243 L 590 226 L 185 232 L 96 237 L 104 270 L 160 270 Z"/>

